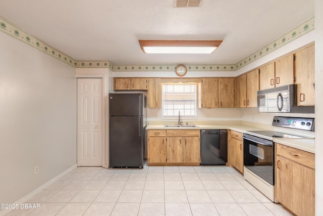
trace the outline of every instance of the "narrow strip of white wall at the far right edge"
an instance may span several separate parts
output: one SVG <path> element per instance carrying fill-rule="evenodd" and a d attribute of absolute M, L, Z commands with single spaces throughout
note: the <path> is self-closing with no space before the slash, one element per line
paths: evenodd
<path fill-rule="evenodd" d="M 315 0 L 315 215 L 323 215 L 323 1 Z"/>

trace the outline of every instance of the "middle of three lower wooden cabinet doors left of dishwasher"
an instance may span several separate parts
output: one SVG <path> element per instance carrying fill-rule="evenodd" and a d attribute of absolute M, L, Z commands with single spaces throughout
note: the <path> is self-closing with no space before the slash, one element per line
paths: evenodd
<path fill-rule="evenodd" d="M 183 137 L 167 138 L 167 161 L 169 163 L 183 162 Z"/>

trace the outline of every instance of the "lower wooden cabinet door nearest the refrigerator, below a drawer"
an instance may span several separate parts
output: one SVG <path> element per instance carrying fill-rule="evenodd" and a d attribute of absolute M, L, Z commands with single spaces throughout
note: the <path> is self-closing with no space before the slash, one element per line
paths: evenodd
<path fill-rule="evenodd" d="M 167 160 L 166 137 L 149 137 L 148 162 L 165 163 Z"/>

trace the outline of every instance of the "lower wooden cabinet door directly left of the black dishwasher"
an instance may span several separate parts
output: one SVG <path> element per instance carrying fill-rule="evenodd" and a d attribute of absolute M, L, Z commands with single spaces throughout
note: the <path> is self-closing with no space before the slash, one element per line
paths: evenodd
<path fill-rule="evenodd" d="M 184 137 L 183 162 L 200 162 L 200 141 L 198 137 Z"/>

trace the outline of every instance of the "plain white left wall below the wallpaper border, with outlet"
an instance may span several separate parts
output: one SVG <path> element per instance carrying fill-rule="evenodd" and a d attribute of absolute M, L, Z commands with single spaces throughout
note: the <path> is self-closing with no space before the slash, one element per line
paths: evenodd
<path fill-rule="evenodd" d="M 76 164 L 76 78 L 3 32 L 0 47 L 0 203 L 14 203 Z"/>

